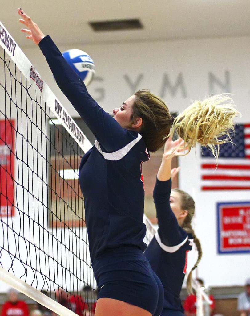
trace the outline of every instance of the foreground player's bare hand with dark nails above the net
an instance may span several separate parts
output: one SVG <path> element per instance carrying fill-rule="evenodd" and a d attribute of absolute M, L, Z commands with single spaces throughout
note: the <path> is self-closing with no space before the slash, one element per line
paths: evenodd
<path fill-rule="evenodd" d="M 38 43 L 45 37 L 44 33 L 21 8 L 18 9 L 18 14 L 22 17 L 19 21 L 29 28 L 28 30 L 21 28 L 21 31 L 28 34 L 26 36 L 27 39 L 32 40 L 36 45 L 38 45 Z"/>

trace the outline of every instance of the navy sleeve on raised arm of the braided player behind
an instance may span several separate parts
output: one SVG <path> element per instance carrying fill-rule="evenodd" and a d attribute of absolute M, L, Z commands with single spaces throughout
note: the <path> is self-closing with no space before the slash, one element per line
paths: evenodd
<path fill-rule="evenodd" d="M 161 242 L 166 246 L 176 246 L 187 236 L 187 233 L 178 225 L 170 206 L 171 185 L 171 178 L 167 181 L 156 179 L 153 193 L 159 225 L 158 233 Z"/>

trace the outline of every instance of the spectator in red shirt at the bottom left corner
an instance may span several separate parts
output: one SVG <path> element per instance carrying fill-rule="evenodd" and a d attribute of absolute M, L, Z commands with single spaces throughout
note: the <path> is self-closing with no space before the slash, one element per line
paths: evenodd
<path fill-rule="evenodd" d="M 9 290 L 8 301 L 3 304 L 1 316 L 29 316 L 28 305 L 20 301 L 18 296 L 17 290 Z"/>

